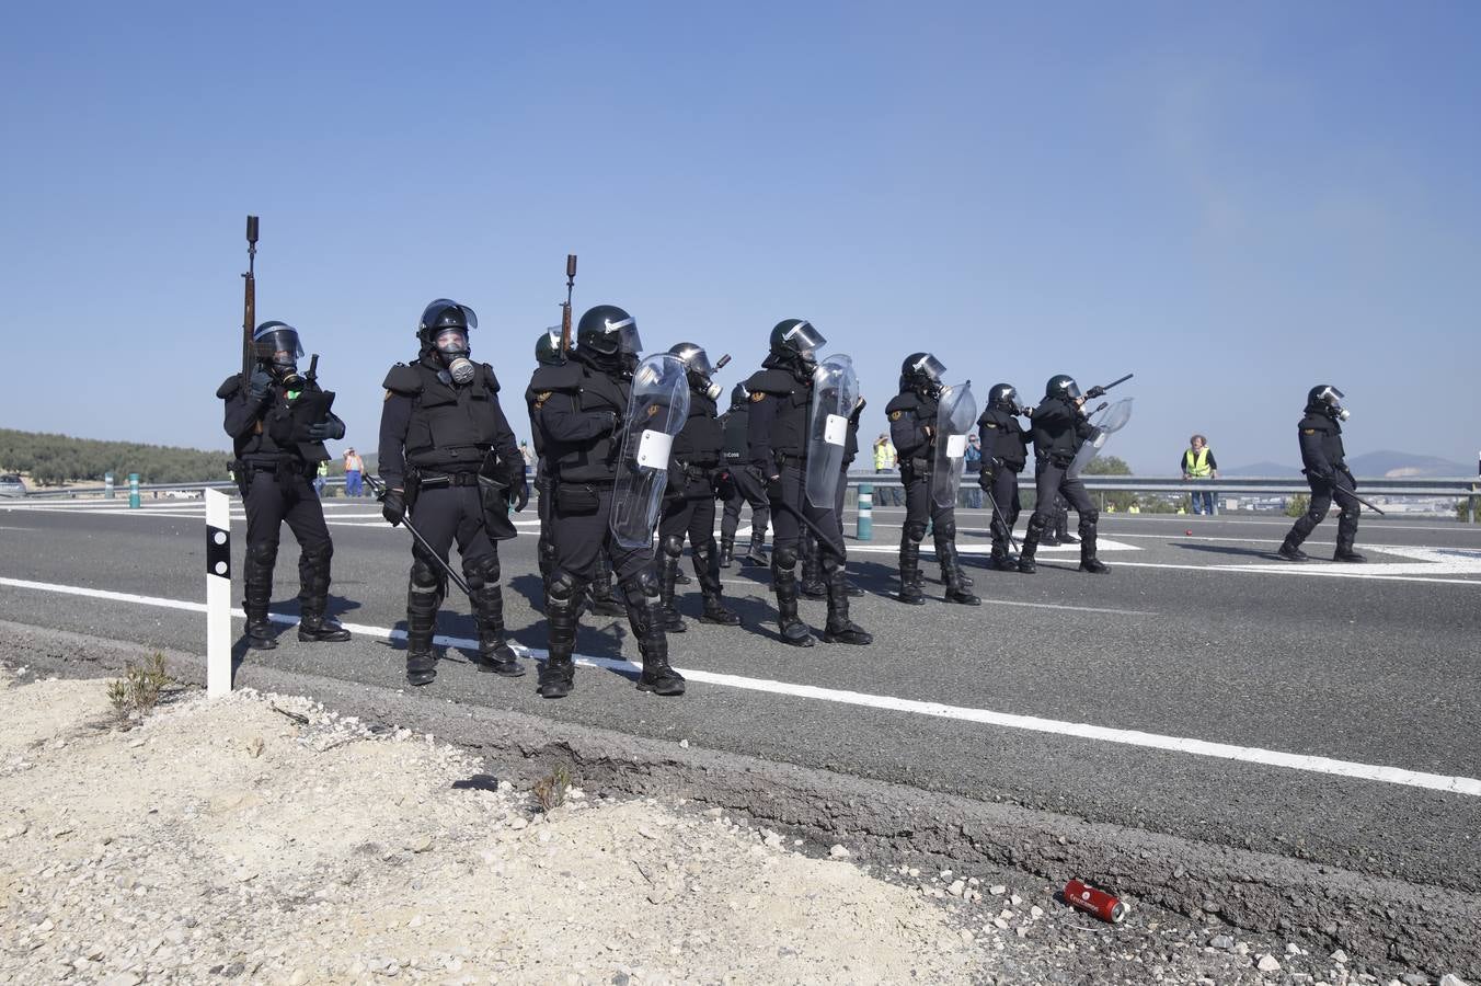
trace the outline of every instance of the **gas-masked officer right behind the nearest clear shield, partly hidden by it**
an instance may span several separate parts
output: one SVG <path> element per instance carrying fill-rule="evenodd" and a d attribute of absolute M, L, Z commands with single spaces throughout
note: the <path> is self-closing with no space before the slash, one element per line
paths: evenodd
<path fill-rule="evenodd" d="M 701 623 L 736 626 L 740 617 L 726 608 L 720 598 L 720 549 L 715 545 L 715 493 L 721 475 L 720 457 L 724 452 L 724 428 L 720 423 L 720 385 L 711 379 L 715 367 L 709 355 L 693 342 L 680 342 L 669 349 L 684 364 L 689 380 L 689 417 L 674 437 L 669 449 L 668 486 L 663 492 L 663 517 L 659 521 L 659 597 L 663 601 L 663 629 L 683 632 L 684 620 L 674 608 L 674 583 L 678 561 L 689 534 L 695 555 L 695 577 L 705 601 Z M 724 363 L 724 360 L 721 360 Z"/>

